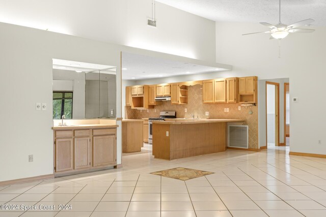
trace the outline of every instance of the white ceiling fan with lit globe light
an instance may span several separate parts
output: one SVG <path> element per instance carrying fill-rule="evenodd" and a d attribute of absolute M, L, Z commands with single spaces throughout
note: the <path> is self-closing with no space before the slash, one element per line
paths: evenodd
<path fill-rule="evenodd" d="M 270 23 L 260 22 L 260 24 L 269 27 L 270 30 L 267 32 L 258 32 L 258 33 L 271 33 L 269 39 L 284 39 L 287 35 L 289 35 L 289 33 L 313 33 L 314 32 L 315 29 L 297 28 L 297 27 L 307 25 L 315 20 L 306 19 L 306 20 L 298 21 L 291 25 L 286 25 L 281 22 L 281 0 L 279 4 L 279 10 L 280 10 L 279 23 L 276 25 L 272 25 Z M 251 35 L 251 34 L 257 34 L 257 33 L 242 34 L 242 36 Z"/>

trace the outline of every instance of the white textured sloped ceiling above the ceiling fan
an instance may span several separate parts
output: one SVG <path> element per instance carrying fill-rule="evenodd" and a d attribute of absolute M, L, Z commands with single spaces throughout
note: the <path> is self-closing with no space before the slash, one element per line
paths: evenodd
<path fill-rule="evenodd" d="M 269 22 L 279 21 L 278 0 L 156 0 L 172 7 L 214 21 Z M 281 21 L 292 24 L 312 18 L 312 25 L 326 26 L 325 0 L 281 0 Z"/>

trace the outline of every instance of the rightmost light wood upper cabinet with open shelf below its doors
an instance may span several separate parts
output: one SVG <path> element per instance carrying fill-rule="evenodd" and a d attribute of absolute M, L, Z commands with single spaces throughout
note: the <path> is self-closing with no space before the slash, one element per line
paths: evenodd
<path fill-rule="evenodd" d="M 239 78 L 239 102 L 257 103 L 257 76 Z"/>

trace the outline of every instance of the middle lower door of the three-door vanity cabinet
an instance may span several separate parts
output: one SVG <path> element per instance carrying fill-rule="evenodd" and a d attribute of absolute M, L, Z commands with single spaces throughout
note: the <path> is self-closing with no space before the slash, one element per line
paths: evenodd
<path fill-rule="evenodd" d="M 90 138 L 75 138 L 74 141 L 74 169 L 91 167 Z"/>

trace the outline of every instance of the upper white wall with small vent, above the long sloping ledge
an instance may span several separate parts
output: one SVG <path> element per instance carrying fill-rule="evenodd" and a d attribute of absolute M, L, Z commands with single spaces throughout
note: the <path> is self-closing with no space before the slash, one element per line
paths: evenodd
<path fill-rule="evenodd" d="M 0 22 L 215 61 L 215 22 L 151 0 L 0 0 Z"/>

